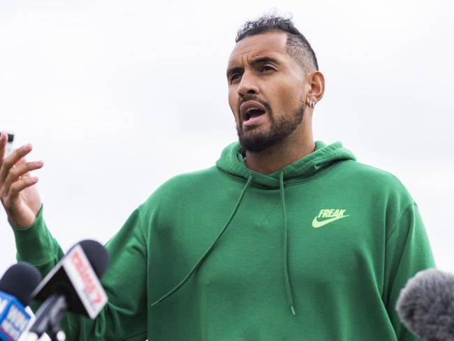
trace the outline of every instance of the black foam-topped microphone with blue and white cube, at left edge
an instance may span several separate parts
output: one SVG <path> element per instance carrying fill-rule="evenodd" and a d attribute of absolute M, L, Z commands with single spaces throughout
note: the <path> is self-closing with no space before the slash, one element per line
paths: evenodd
<path fill-rule="evenodd" d="M 31 292 L 40 281 L 39 271 L 23 262 L 10 266 L 1 277 L 0 340 L 19 340 L 31 318 L 24 307 L 29 305 Z"/>

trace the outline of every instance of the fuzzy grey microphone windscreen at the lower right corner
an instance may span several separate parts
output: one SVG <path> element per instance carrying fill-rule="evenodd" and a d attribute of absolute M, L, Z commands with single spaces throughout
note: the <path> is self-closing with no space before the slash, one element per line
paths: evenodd
<path fill-rule="evenodd" d="M 400 291 L 397 313 L 404 325 L 423 340 L 454 340 L 454 275 L 423 270 Z"/>

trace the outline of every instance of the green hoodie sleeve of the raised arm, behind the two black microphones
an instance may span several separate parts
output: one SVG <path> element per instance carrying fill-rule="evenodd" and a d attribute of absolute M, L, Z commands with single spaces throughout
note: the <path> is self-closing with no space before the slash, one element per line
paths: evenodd
<path fill-rule="evenodd" d="M 17 259 L 27 261 L 46 275 L 64 255 L 45 226 L 42 209 L 34 224 L 13 228 Z M 147 339 L 147 247 L 140 209 L 105 245 L 110 265 L 101 283 L 108 303 L 96 319 L 68 313 L 62 327 L 68 340 Z"/>

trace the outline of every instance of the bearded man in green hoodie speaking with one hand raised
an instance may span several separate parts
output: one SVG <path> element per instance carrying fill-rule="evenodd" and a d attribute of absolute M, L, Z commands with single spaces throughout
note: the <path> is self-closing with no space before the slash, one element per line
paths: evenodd
<path fill-rule="evenodd" d="M 305 37 L 286 18 L 247 22 L 226 75 L 240 143 L 132 213 L 106 246 L 109 303 L 95 321 L 68 314 L 70 339 L 416 340 L 395 301 L 434 266 L 418 208 L 393 175 L 314 143 L 324 78 Z M 0 155 L 0 194 L 17 258 L 47 273 L 63 253 L 30 150 Z"/>

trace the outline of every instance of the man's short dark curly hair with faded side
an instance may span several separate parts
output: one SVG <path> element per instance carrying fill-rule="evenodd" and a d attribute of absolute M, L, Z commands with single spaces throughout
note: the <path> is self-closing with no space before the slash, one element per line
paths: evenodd
<path fill-rule="evenodd" d="M 272 31 L 283 31 L 287 33 L 287 52 L 296 61 L 302 64 L 305 71 L 318 70 L 318 62 L 314 50 L 309 41 L 295 27 L 291 17 L 282 17 L 274 13 L 265 14 L 256 20 L 245 22 L 238 30 L 235 43 L 247 36 L 265 34 Z"/>

